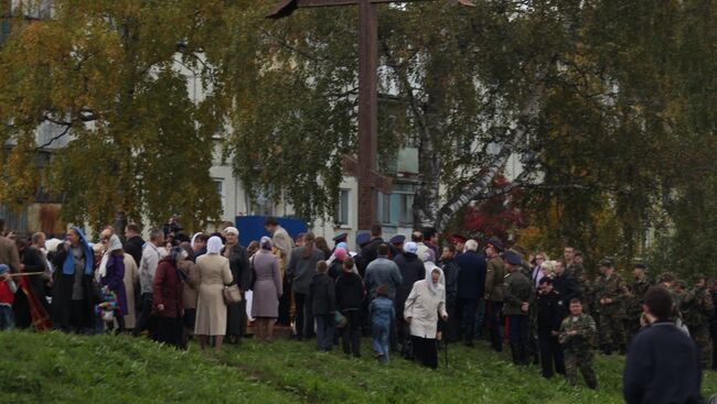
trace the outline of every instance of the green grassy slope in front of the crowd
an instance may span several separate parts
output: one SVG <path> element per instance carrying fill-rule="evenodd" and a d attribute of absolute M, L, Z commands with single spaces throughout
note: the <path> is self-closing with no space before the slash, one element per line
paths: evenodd
<path fill-rule="evenodd" d="M 622 357 L 597 357 L 600 389 L 544 380 L 538 367 L 516 368 L 484 345 L 451 346 L 438 371 L 399 358 L 376 363 L 312 341 L 245 341 L 216 357 L 180 352 L 131 337 L 0 332 L 0 402 L 105 403 L 620 403 Z M 717 392 L 708 371 L 705 395 Z"/>

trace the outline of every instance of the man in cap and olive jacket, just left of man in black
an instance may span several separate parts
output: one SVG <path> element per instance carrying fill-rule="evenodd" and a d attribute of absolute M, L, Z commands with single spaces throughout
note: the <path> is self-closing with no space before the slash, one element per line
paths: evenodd
<path fill-rule="evenodd" d="M 521 271 L 521 256 L 514 251 L 505 252 L 503 262 L 509 272 L 505 276 L 505 306 L 509 319 L 511 353 L 514 364 L 528 364 L 528 309 L 532 304 L 531 280 Z"/>

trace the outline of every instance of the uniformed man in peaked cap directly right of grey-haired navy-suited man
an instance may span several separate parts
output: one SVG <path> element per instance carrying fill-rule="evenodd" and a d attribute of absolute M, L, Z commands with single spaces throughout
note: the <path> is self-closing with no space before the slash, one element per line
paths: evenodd
<path fill-rule="evenodd" d="M 491 330 L 491 346 L 496 352 L 503 351 L 503 299 L 505 295 L 505 266 L 500 256 L 503 245 L 497 238 L 491 238 L 485 244 L 488 264 L 485 266 L 485 313 Z"/>

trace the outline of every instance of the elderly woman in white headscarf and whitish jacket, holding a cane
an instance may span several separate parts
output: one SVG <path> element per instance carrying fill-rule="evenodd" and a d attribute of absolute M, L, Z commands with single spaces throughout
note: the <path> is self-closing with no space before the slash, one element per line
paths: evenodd
<path fill-rule="evenodd" d="M 436 334 L 438 316 L 448 320 L 446 312 L 446 286 L 443 271 L 432 262 L 426 262 L 426 279 L 414 283 L 406 299 L 404 317 L 410 325 L 414 354 L 425 367 L 438 368 Z"/>

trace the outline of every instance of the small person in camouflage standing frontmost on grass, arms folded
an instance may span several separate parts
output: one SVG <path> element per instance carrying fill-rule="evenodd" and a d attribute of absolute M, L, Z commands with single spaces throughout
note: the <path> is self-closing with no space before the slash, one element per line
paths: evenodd
<path fill-rule="evenodd" d="M 592 351 L 590 341 L 596 334 L 595 320 L 582 313 L 579 299 L 570 301 L 570 315 L 560 323 L 558 340 L 565 354 L 565 373 L 570 385 L 578 384 L 578 368 L 590 389 L 598 387 L 598 380 L 592 370 Z"/>

